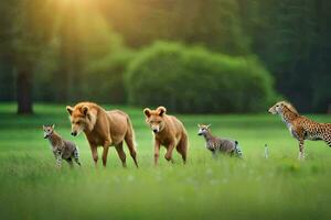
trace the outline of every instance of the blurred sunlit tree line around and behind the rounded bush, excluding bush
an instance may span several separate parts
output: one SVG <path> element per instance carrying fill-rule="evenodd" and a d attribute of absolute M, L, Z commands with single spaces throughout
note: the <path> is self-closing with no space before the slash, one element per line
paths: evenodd
<path fill-rule="evenodd" d="M 256 56 L 302 111 L 331 102 L 328 0 L 0 2 L 0 100 L 127 103 L 124 75 L 157 41 Z"/>

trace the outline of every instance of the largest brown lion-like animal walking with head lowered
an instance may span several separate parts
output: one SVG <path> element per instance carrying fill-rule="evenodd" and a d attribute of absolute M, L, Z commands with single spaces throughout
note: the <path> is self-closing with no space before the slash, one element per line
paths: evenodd
<path fill-rule="evenodd" d="M 93 102 L 79 102 L 75 107 L 67 106 L 66 110 L 72 123 L 72 135 L 76 136 L 84 131 L 96 165 L 98 161 L 97 147 L 104 147 L 103 165 L 106 166 L 108 148 L 115 146 L 122 166 L 126 167 L 126 154 L 122 150 L 122 142 L 125 141 L 138 167 L 135 133 L 128 114 L 120 110 L 106 111 Z"/>

